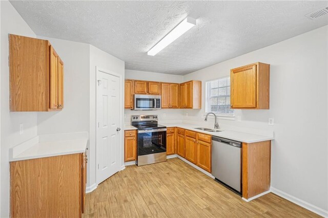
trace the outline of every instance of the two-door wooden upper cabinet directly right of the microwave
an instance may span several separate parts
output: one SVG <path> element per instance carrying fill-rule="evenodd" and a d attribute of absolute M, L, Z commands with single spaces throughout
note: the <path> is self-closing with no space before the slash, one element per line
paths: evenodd
<path fill-rule="evenodd" d="M 162 108 L 178 108 L 178 91 L 177 83 L 161 83 L 161 101 Z"/>

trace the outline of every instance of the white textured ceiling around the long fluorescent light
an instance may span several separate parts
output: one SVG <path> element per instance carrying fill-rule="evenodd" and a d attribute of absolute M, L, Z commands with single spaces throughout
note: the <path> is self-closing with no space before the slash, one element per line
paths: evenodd
<path fill-rule="evenodd" d="M 328 24 L 327 1 L 11 1 L 37 35 L 86 42 L 126 69 L 184 75 Z M 147 51 L 186 16 L 197 26 Z M 260 60 L 260 57 L 259 57 Z"/>

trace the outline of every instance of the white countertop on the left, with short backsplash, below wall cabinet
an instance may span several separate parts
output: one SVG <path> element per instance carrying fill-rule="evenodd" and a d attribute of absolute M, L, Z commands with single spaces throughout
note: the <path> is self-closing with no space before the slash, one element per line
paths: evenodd
<path fill-rule="evenodd" d="M 87 143 L 88 133 L 40 135 L 10 148 L 9 161 L 83 153 Z"/>

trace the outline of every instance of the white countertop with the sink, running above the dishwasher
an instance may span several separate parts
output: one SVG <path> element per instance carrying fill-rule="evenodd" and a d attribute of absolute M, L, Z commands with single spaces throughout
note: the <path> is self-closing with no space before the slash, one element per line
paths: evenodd
<path fill-rule="evenodd" d="M 204 127 L 204 126 L 199 126 L 196 124 L 189 124 L 189 123 L 166 123 L 166 124 L 162 124 L 162 125 L 165 125 L 167 127 L 180 127 L 180 128 L 189 129 L 189 130 L 199 132 L 199 133 L 204 133 L 204 134 L 208 134 L 208 135 L 212 135 L 212 136 L 218 136 L 218 137 L 236 140 L 236 141 L 245 142 L 245 143 L 262 142 L 262 141 L 268 141 L 268 140 L 274 139 L 274 137 L 270 137 L 270 136 L 261 136 L 261 135 L 242 133 L 242 132 L 236 132 L 236 131 L 224 130 L 224 129 L 218 129 L 218 130 L 222 130 L 222 132 L 212 133 L 212 132 L 195 129 L 197 127 Z"/>

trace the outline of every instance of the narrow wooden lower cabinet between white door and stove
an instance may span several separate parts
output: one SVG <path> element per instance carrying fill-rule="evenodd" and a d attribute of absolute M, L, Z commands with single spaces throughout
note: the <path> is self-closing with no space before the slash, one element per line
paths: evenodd
<path fill-rule="evenodd" d="M 137 159 L 136 130 L 126 130 L 124 140 L 124 161 L 135 161 Z"/>

